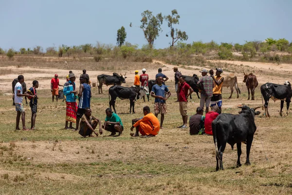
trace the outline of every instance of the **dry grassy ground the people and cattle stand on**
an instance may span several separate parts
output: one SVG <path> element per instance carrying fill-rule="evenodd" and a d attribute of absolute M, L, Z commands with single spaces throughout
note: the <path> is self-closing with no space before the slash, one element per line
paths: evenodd
<path fill-rule="evenodd" d="M 165 116 L 164 129 L 157 137 L 132 138 L 129 136 L 131 119 L 142 116 L 142 108 L 150 102 L 138 100 L 136 114 L 128 114 L 128 100 L 117 99 L 117 112 L 123 120 L 125 130 L 120 137 L 107 137 L 104 132 L 96 138 L 82 138 L 77 132 L 64 130 L 65 103 L 51 102 L 48 87 L 41 85 L 38 90 L 39 103 L 37 130 L 14 132 L 16 112 L 12 106 L 9 92 L 11 78 L 24 74 L 25 67 L 38 67 L 35 75 L 40 82 L 49 81 L 60 72 L 61 79 L 69 69 L 99 72 L 128 72 L 127 85 L 133 81 L 133 71 L 146 67 L 150 78 L 154 78 L 156 69 L 173 79 L 172 65 L 158 63 L 92 62 L 90 59 L 15 58 L 13 61 L 0 59 L 0 194 L 291 194 L 292 193 L 292 134 L 291 115 L 279 116 L 280 102 L 270 102 L 271 118 L 256 117 L 257 131 L 251 149 L 251 166 L 236 168 L 237 149 L 226 147 L 223 155 L 224 171 L 215 172 L 216 159 L 213 137 L 189 136 L 188 130 L 175 128 L 181 125 L 178 104 L 175 103 L 173 80 L 167 82 L 173 92 L 168 99 L 168 114 Z M 258 65 L 258 64 L 257 64 Z M 223 112 L 237 114 L 238 104 L 261 105 L 259 86 L 266 81 L 283 83 L 290 80 L 289 72 L 283 73 L 281 65 L 267 65 L 269 68 L 257 68 L 256 63 L 246 65 L 222 61 L 195 61 L 193 65 L 181 65 L 184 75 L 199 74 L 201 67 L 223 67 L 224 72 L 236 73 L 242 94 L 228 100 L 229 89 L 223 88 Z M 265 65 L 265 64 L 261 64 Z M 10 69 L 11 66 L 19 67 Z M 78 68 L 80 67 L 80 68 Z M 282 67 L 283 68 L 283 67 Z M 47 69 L 51 69 L 50 73 Z M 274 70 L 272 70 L 274 69 Z M 42 76 L 44 70 L 49 76 Z M 65 71 L 66 70 L 66 71 Z M 125 71 L 127 70 L 127 71 Z M 256 100 L 247 99 L 247 89 L 242 84 L 242 71 L 255 72 L 259 80 L 256 88 Z M 63 72 L 62 72 L 63 71 Z M 65 72 L 64 72 L 65 71 Z M 76 72 L 74 71 L 74 72 Z M 93 72 L 96 71 L 96 72 Z M 78 73 L 79 74 L 79 73 Z M 91 72 L 89 72 L 91 76 Z M 91 77 L 94 81 L 96 77 Z M 31 83 L 32 80 L 26 80 Z M 45 82 L 44 82 L 45 83 Z M 8 85 L 9 86 L 6 86 Z M 79 83 L 77 82 L 77 85 Z M 29 85 L 30 86 L 30 85 Z M 28 87 L 29 87 L 28 86 Z M 109 97 L 97 94 L 92 88 L 91 109 L 93 115 L 104 120 L 104 111 Z M 194 114 L 199 100 L 193 96 L 189 102 L 189 116 Z M 30 109 L 25 106 L 26 124 L 30 126 Z M 284 108 L 285 110 L 285 108 Z M 290 111 L 291 112 L 291 111 Z M 245 145 L 242 146 L 241 162 L 245 162 Z"/>

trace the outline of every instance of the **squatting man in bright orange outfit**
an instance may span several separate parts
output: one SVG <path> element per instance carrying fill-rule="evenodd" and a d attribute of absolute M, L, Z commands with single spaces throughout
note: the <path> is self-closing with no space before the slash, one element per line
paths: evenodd
<path fill-rule="evenodd" d="M 153 113 L 150 113 L 149 106 L 145 106 L 143 108 L 143 118 L 133 119 L 132 122 L 136 120 L 136 123 L 133 124 L 131 127 L 131 131 L 133 131 L 134 127 L 136 127 L 136 133 L 135 135 L 131 133 L 130 135 L 133 137 L 138 137 L 139 132 L 142 136 L 145 137 L 154 137 L 159 133 L 160 130 L 160 124 L 159 120 Z"/>

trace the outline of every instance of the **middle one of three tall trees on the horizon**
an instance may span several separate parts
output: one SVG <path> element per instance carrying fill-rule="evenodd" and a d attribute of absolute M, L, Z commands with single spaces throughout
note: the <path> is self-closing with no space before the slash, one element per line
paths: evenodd
<path fill-rule="evenodd" d="M 142 24 L 140 28 L 144 32 L 144 36 L 149 44 L 149 48 L 152 49 L 154 40 L 159 36 L 159 32 L 162 31 L 161 25 L 163 23 L 163 16 L 161 13 L 159 13 L 155 17 L 149 10 L 144 11 L 141 15 Z"/>

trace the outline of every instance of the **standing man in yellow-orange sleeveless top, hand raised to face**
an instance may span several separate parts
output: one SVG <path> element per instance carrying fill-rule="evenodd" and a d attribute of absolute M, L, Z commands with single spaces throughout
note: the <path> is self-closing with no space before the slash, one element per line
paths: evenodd
<path fill-rule="evenodd" d="M 223 70 L 221 68 L 216 68 L 216 76 L 211 77 L 214 80 L 214 88 L 213 88 L 213 96 L 211 98 L 211 107 L 217 104 L 219 110 L 221 110 L 222 106 L 222 85 L 224 81 L 224 77 L 221 76 Z"/>

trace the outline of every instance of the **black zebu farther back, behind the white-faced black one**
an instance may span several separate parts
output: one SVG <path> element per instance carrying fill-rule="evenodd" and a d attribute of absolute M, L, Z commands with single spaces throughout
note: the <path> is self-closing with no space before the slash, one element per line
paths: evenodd
<path fill-rule="evenodd" d="M 100 94 L 100 91 L 102 93 L 102 85 L 122 85 L 122 83 L 126 83 L 126 74 L 121 76 L 117 73 L 112 73 L 112 76 L 110 75 L 98 75 L 97 76 L 97 87 L 98 87 L 98 93 Z"/>

